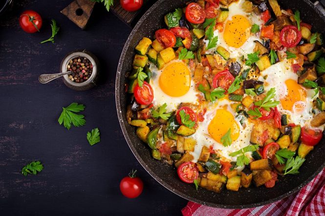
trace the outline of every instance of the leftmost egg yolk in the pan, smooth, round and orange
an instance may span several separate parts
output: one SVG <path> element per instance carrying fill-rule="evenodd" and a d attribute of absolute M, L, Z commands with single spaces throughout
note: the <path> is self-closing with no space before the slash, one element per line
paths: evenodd
<path fill-rule="evenodd" d="M 165 67 L 159 77 L 161 90 L 172 97 L 185 95 L 191 87 L 191 73 L 183 62 L 173 62 Z"/>

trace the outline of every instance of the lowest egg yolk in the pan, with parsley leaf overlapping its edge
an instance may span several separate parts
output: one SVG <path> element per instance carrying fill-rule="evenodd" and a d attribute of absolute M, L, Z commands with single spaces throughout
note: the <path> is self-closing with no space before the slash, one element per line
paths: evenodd
<path fill-rule="evenodd" d="M 221 142 L 223 137 L 231 129 L 230 137 L 232 141 L 235 141 L 239 137 L 239 126 L 235 121 L 234 116 L 227 110 L 218 109 L 215 117 L 211 120 L 208 126 L 208 132 L 212 138 L 217 142 Z"/>

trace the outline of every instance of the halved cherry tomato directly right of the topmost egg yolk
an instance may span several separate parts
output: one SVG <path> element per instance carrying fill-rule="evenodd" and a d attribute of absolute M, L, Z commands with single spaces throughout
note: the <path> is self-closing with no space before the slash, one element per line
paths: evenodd
<path fill-rule="evenodd" d="M 302 39 L 302 33 L 294 25 L 287 25 L 282 28 L 280 41 L 285 47 L 294 47 Z"/>

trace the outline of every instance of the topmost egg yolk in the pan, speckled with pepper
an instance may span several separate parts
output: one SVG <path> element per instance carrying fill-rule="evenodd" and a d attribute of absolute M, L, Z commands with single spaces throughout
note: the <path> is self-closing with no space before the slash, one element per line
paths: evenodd
<path fill-rule="evenodd" d="M 251 23 L 241 15 L 232 17 L 225 25 L 223 38 L 232 47 L 240 47 L 249 38 Z"/>

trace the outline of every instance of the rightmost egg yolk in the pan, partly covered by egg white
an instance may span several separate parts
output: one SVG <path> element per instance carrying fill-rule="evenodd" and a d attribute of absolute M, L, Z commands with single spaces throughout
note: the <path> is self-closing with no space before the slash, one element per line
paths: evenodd
<path fill-rule="evenodd" d="M 285 80 L 285 85 L 288 94 L 284 98 L 280 99 L 283 109 L 292 111 L 295 106 L 296 111 L 303 111 L 304 103 L 296 102 L 306 101 L 306 90 L 293 79 Z"/>

